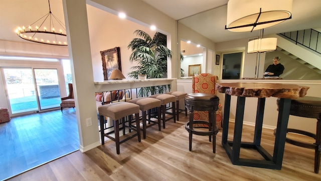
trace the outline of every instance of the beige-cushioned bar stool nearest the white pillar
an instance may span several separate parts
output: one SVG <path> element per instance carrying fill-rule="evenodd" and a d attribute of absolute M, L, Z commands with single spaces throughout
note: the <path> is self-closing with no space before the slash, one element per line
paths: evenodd
<path fill-rule="evenodd" d="M 105 144 L 105 136 L 116 142 L 116 151 L 117 154 L 120 153 L 119 145 L 135 136 L 138 137 L 138 142 L 140 142 L 140 127 L 136 126 L 136 128 L 132 126 L 128 126 L 130 130 L 135 130 L 136 133 L 124 138 L 123 140 L 119 140 L 119 119 L 122 119 L 122 123 L 125 121 L 126 116 L 131 116 L 135 114 L 136 125 L 139 125 L 139 106 L 127 103 L 127 102 L 116 102 L 107 105 L 102 105 L 98 107 L 99 121 L 100 121 L 100 136 L 101 136 L 101 144 Z M 113 120 L 114 131 L 104 133 L 104 118 L 110 117 Z M 130 119 L 131 120 L 131 119 Z M 126 126 L 123 124 L 121 129 L 125 129 Z M 110 134 L 115 133 L 115 138 L 111 137 Z"/>

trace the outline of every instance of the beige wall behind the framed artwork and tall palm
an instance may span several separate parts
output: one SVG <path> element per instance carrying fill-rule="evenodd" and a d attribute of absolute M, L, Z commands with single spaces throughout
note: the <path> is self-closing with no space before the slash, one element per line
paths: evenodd
<path fill-rule="evenodd" d="M 94 81 L 104 80 L 100 51 L 114 47 L 120 47 L 121 71 L 125 77 L 128 77 L 130 67 L 135 66 L 136 63 L 132 64 L 129 61 L 131 50 L 128 50 L 127 46 L 133 38 L 140 38 L 134 34 L 134 31 L 142 30 L 151 38 L 156 31 L 151 31 L 149 27 L 127 19 L 119 19 L 116 15 L 90 5 L 87 5 L 87 14 Z"/>

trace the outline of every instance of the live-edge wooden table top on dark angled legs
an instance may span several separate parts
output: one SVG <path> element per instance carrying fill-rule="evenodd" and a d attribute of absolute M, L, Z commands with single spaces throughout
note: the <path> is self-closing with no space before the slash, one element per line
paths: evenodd
<path fill-rule="evenodd" d="M 216 83 L 219 93 L 230 96 L 254 98 L 288 98 L 304 97 L 310 87 L 286 83 L 229 82 Z"/>

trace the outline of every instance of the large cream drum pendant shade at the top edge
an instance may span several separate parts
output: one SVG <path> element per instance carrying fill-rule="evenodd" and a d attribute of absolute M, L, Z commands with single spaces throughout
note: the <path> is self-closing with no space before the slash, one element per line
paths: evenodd
<path fill-rule="evenodd" d="M 290 19 L 291 11 L 292 0 L 229 0 L 225 29 L 232 32 L 264 29 Z"/>

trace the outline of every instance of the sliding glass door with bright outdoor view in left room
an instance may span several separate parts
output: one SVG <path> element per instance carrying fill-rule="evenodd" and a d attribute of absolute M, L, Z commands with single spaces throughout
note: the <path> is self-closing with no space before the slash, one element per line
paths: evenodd
<path fill-rule="evenodd" d="M 57 69 L 3 68 L 12 114 L 60 106 Z"/>

